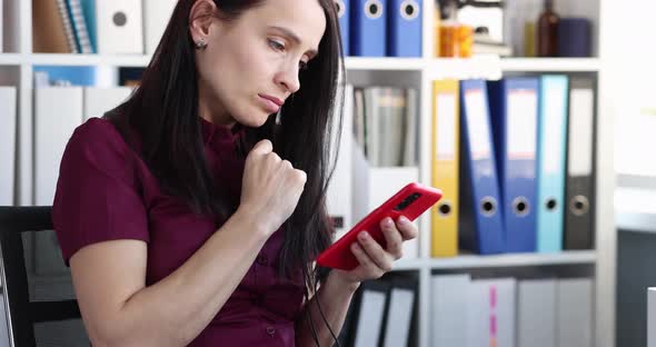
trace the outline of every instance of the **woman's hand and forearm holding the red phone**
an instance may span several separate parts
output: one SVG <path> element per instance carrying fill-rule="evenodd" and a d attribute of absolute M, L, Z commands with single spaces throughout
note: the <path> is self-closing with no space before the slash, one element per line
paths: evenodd
<path fill-rule="evenodd" d="M 360 282 L 380 278 L 391 270 L 391 264 L 401 258 L 402 242 L 417 237 L 417 228 L 405 217 L 395 221 L 386 218 L 380 221 L 380 229 L 385 235 L 387 248 L 384 249 L 369 234 L 358 234 L 358 241 L 351 245 L 351 251 L 358 259 L 358 267 L 350 271 L 332 270 L 326 282 L 319 288 L 299 316 L 297 321 L 296 340 L 298 346 L 315 346 L 315 339 L 309 324 L 309 316 L 315 323 L 320 346 L 332 346 L 332 336 L 326 326 L 318 304 L 321 306 L 326 321 L 337 336 L 341 330 L 344 318 L 354 293 Z"/>

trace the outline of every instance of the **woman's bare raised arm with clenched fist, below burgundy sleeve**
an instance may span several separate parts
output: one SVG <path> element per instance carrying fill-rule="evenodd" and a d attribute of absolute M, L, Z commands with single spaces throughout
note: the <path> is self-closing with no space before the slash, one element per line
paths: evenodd
<path fill-rule="evenodd" d="M 74 252 L 73 285 L 93 346 L 188 345 L 289 218 L 305 182 L 305 172 L 272 152 L 270 141 L 258 142 L 246 158 L 237 212 L 178 269 L 149 287 L 143 241 L 103 241 Z"/>

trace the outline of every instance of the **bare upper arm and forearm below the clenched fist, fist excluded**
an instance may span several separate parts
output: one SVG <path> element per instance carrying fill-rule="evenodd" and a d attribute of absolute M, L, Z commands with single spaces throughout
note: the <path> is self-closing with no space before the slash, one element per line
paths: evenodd
<path fill-rule="evenodd" d="M 188 345 L 230 297 L 267 239 L 249 217 L 232 216 L 180 268 L 150 287 L 143 241 L 106 241 L 76 252 L 73 284 L 93 346 Z"/>

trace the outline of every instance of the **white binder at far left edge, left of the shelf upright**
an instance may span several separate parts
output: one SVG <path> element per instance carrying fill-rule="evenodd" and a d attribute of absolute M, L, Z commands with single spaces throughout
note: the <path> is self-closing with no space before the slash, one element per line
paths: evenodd
<path fill-rule="evenodd" d="M 0 87 L 0 206 L 13 205 L 17 162 L 16 102 L 16 87 Z"/>

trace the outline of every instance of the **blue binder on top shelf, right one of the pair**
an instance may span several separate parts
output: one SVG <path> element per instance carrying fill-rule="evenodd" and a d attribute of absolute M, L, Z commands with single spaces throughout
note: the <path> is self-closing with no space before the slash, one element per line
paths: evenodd
<path fill-rule="evenodd" d="M 387 0 L 387 54 L 421 57 L 421 0 Z"/>

